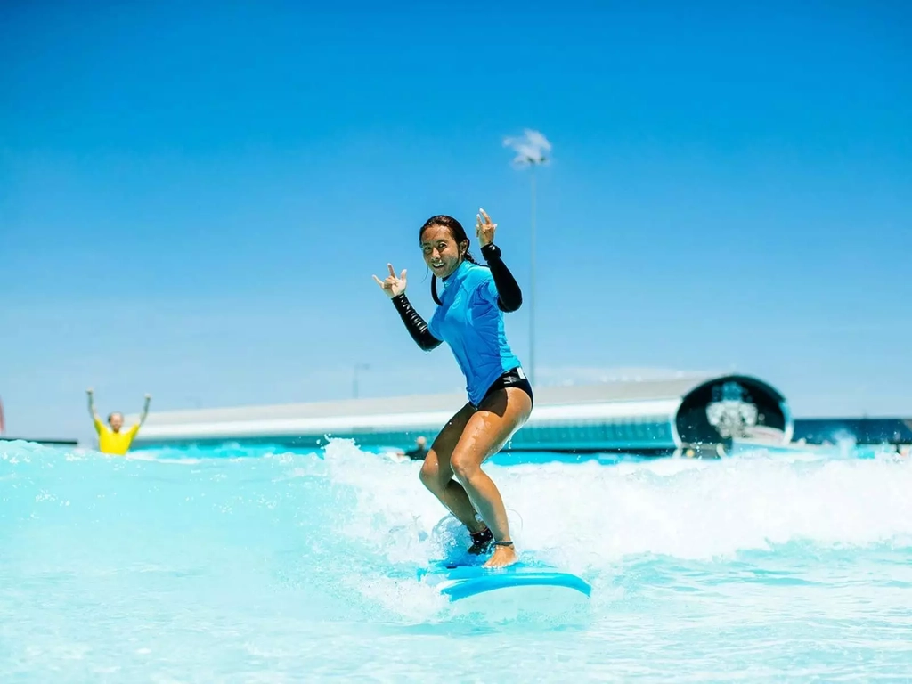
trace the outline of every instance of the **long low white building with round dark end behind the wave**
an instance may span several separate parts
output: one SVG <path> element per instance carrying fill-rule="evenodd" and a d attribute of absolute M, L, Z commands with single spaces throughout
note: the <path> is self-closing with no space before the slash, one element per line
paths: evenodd
<path fill-rule="evenodd" d="M 667 454 L 724 448 L 732 439 L 772 446 L 792 438 L 793 419 L 782 394 L 748 375 L 691 375 L 534 391 L 532 416 L 513 436 L 510 451 Z M 240 441 L 308 448 L 337 437 L 367 448 L 408 448 L 420 435 L 433 440 L 465 401 L 464 394 L 435 394 L 154 412 L 134 445 Z"/>

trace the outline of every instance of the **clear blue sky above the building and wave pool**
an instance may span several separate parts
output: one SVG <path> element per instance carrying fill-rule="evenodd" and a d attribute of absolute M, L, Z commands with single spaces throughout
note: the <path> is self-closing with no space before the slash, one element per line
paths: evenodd
<path fill-rule="evenodd" d="M 371 275 L 479 206 L 537 376 L 756 374 L 797 415 L 912 414 L 901 4 L 0 8 L 7 431 L 102 411 L 461 389 Z M 528 356 L 528 310 L 508 317 Z"/>

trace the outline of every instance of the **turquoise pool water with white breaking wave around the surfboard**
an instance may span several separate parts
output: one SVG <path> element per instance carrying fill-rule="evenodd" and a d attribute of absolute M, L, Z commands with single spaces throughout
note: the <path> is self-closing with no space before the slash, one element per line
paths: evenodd
<path fill-rule="evenodd" d="M 398 463 L 331 442 L 108 458 L 0 442 L 0 681 L 839 681 L 912 673 L 912 466 L 493 465 L 584 613 L 462 614 Z"/>

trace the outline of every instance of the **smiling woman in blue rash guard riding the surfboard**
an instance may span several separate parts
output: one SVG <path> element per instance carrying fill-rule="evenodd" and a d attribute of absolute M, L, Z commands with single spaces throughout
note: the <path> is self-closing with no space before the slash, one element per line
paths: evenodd
<path fill-rule="evenodd" d="M 507 344 L 503 313 L 516 311 L 523 294 L 493 243 L 496 223 L 484 210 L 476 235 L 487 267 L 469 254 L 469 238 L 451 216 L 432 216 L 420 230 L 421 252 L 432 274 L 437 309 L 425 323 L 405 295 L 406 270 L 374 280 L 388 295 L 412 339 L 425 351 L 446 342 L 466 378 L 468 402 L 440 430 L 421 466 L 424 483 L 469 528 L 473 554 L 491 550 L 485 567 L 516 562 L 503 499 L 482 463 L 500 451 L 532 413 L 533 393 Z M 443 284 L 438 294 L 437 281 Z M 455 479 L 454 479 L 455 478 Z"/>

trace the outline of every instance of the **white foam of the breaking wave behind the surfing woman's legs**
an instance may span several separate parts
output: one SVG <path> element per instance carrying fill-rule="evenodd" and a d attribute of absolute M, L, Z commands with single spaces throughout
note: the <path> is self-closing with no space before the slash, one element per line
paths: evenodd
<path fill-rule="evenodd" d="M 421 486 L 420 463 L 381 460 L 341 441 L 327 446 L 326 463 L 330 479 L 356 494 L 344 534 L 394 563 L 440 551 L 428 544 L 446 512 Z M 793 541 L 864 546 L 912 537 L 907 460 L 753 454 L 486 471 L 522 521 L 517 546 L 575 572 L 635 554 L 709 559 Z"/>

